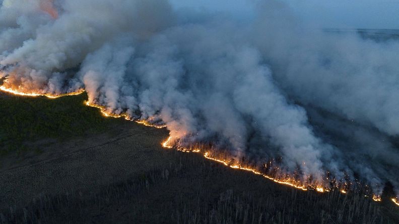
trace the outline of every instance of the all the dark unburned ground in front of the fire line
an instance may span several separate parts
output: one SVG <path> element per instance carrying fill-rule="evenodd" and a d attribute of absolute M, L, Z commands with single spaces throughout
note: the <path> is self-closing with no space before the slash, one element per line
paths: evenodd
<path fill-rule="evenodd" d="M 15 111 L 2 126 L 19 131 L 2 144 L 27 147 L 0 158 L 0 223 L 399 223 L 388 198 L 297 190 L 165 150 L 165 129 L 102 117 L 85 97 L 0 97 L 2 116 Z"/>

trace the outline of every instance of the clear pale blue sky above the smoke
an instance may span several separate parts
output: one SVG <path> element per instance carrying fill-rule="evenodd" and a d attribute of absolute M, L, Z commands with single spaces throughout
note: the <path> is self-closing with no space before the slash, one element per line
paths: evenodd
<path fill-rule="evenodd" d="M 170 0 L 176 8 L 252 13 L 256 0 Z M 258 0 L 259 1 L 259 0 Z M 284 0 L 300 18 L 324 28 L 399 29 L 399 0 Z"/>

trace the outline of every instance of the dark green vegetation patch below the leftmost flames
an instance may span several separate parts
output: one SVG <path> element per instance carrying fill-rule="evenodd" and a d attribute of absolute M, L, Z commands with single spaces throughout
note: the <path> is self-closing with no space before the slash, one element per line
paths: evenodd
<path fill-rule="evenodd" d="M 40 151 L 43 143 L 90 136 L 117 125 L 118 120 L 104 119 L 96 108 L 84 106 L 86 98 L 86 94 L 49 99 L 0 92 L 0 155 Z"/>

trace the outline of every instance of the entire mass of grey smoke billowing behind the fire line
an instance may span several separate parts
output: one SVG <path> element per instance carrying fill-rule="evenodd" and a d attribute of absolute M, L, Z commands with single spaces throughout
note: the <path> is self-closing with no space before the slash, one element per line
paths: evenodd
<path fill-rule="evenodd" d="M 281 156 L 303 178 L 329 170 L 398 189 L 399 42 L 309 29 L 274 1 L 256 8 L 237 22 L 156 0 L 3 1 L 0 77 L 25 92 L 84 88 L 108 113 Z"/>

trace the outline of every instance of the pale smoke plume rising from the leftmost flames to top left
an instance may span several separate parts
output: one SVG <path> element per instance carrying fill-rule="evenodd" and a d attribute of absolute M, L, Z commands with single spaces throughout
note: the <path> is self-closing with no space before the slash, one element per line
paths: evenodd
<path fill-rule="evenodd" d="M 25 2 L 3 2 L 2 10 L 10 7 L 23 13 Z M 3 66 L 14 65 L 8 80 L 12 86 L 19 86 L 23 91 L 63 92 L 76 88 L 76 82 L 68 71 L 77 68 L 87 54 L 108 40 L 131 32 L 136 38 L 145 38 L 171 20 L 168 15 L 170 6 L 165 2 L 62 1 L 58 10 L 63 13 L 56 20 L 47 8 L 43 10 L 45 1 L 27 2 L 33 5 L 29 13 L 47 20 L 34 24 L 37 29 L 33 36 L 15 43 L 19 46 L 4 52 L 0 61 Z M 50 3 L 47 1 L 45 5 Z M 154 14 L 147 13 L 151 9 Z M 19 18 L 15 19 L 17 24 Z M 4 17 L 7 24 L 13 23 L 13 20 Z M 8 34 L 14 28 L 5 27 L 3 30 L 3 34 Z"/>

